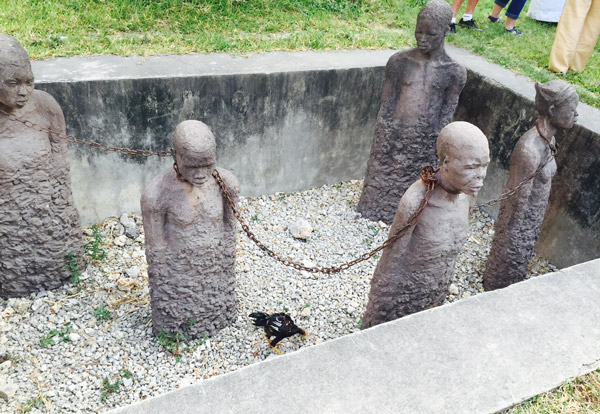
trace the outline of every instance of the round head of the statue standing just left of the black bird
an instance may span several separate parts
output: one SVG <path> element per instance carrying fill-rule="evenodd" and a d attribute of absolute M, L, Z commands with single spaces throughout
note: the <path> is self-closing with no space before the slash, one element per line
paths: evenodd
<path fill-rule="evenodd" d="M 206 184 L 216 167 L 217 152 L 208 126 L 200 121 L 183 121 L 175 128 L 173 146 L 179 174 L 196 187 Z"/>

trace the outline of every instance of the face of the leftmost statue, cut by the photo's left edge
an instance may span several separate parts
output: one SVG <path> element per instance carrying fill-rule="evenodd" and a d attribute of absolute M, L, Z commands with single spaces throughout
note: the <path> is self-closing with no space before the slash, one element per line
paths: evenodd
<path fill-rule="evenodd" d="M 0 71 L 0 106 L 13 111 L 27 104 L 33 92 L 33 73 L 29 65 L 7 65 Z"/>

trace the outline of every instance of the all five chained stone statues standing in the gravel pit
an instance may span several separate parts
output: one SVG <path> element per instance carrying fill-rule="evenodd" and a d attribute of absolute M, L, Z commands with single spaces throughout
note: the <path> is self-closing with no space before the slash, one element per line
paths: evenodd
<path fill-rule="evenodd" d="M 417 19 L 417 47 L 386 65 L 381 108 L 358 211 L 392 222 L 390 237 L 411 223 L 382 253 L 363 328 L 440 305 L 466 237 L 469 212 L 490 162 L 486 136 L 451 122 L 466 70 L 444 51 L 452 16 L 430 0 Z M 539 119 L 518 141 L 484 275 L 485 289 L 522 280 L 548 203 L 554 134 L 576 119 L 578 97 L 565 82 L 536 85 Z M 26 119 L 41 130 L 16 122 Z M 0 35 L 0 296 L 52 289 L 69 279 L 66 257 L 80 260 L 80 220 L 73 203 L 62 111 L 33 87 L 25 50 Z M 146 236 L 153 330 L 190 337 L 214 334 L 236 318 L 235 217 L 213 179 L 218 171 L 232 196 L 233 174 L 216 167 L 209 127 L 184 121 L 173 135 L 175 164 L 145 189 Z M 423 165 L 439 169 L 424 182 Z M 431 187 L 433 183 L 433 187 Z M 428 199 L 421 209 L 424 198 Z M 77 264 L 77 263 L 76 263 Z"/>

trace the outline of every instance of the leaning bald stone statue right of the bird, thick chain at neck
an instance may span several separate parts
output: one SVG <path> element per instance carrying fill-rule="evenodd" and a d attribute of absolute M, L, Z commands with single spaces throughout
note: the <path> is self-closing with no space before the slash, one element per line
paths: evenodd
<path fill-rule="evenodd" d="M 441 305 L 456 256 L 467 239 L 471 204 L 490 162 L 488 141 L 476 126 L 453 122 L 437 139 L 438 182 L 417 223 L 383 250 L 377 263 L 363 329 Z M 426 186 L 416 181 L 402 196 L 390 236 L 417 212 Z"/>

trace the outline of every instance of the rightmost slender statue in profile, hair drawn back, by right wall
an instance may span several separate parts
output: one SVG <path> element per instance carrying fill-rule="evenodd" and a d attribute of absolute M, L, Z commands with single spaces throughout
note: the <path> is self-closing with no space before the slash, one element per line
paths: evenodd
<path fill-rule="evenodd" d="M 500 204 L 496 235 L 483 275 L 485 290 L 503 288 L 525 278 L 556 173 L 554 134 L 558 128 L 571 128 L 577 119 L 579 97 L 568 83 L 536 83 L 535 89 L 539 118 L 515 145 L 505 191 L 541 169 Z"/>

